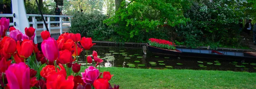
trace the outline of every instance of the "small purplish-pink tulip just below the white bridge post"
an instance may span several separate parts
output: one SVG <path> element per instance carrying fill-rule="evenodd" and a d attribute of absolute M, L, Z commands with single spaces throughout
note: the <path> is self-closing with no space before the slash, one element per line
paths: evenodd
<path fill-rule="evenodd" d="M 13 30 L 10 32 L 9 36 L 17 42 L 21 41 L 23 34 L 19 30 Z"/>

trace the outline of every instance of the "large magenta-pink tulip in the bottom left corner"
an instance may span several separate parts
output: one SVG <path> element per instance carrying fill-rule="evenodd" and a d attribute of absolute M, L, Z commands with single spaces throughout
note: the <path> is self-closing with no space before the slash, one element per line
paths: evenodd
<path fill-rule="evenodd" d="M 6 78 L 10 89 L 30 89 L 30 71 L 24 62 L 12 64 L 6 70 Z"/>

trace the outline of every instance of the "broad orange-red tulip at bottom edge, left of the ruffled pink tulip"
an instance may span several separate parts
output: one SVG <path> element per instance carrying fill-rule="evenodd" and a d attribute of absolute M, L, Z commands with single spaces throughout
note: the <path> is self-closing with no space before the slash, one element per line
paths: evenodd
<path fill-rule="evenodd" d="M 52 74 L 47 77 L 47 89 L 73 89 L 74 77 L 72 75 L 67 77 L 60 74 Z"/>

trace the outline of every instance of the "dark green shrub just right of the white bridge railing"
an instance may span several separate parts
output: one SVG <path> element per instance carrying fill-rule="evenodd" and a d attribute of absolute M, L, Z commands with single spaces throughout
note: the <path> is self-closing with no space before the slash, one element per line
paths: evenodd
<path fill-rule="evenodd" d="M 99 13 L 81 14 L 77 12 L 71 20 L 70 32 L 92 37 L 94 40 L 108 40 L 113 34 L 113 26 L 103 24 L 107 16 Z"/>

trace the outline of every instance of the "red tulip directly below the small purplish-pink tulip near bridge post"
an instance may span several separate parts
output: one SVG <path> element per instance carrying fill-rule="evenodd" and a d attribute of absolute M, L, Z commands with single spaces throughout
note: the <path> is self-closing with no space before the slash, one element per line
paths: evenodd
<path fill-rule="evenodd" d="M 17 51 L 20 57 L 28 58 L 34 50 L 34 42 L 32 40 L 25 39 L 20 45 L 20 41 L 17 42 Z"/>

